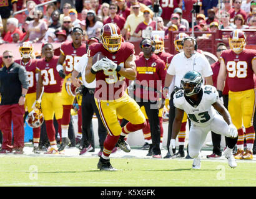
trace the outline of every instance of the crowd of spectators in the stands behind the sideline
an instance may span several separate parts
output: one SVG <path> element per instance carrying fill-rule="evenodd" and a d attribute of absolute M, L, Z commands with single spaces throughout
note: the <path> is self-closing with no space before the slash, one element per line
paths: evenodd
<path fill-rule="evenodd" d="M 152 27 L 150 30 L 164 30 L 165 37 L 168 37 L 172 30 L 192 30 L 192 14 L 187 12 L 197 1 L 174 0 L 173 5 L 167 7 L 160 1 L 159 12 L 156 13 L 154 4 L 157 1 L 154 0 L 57 0 L 40 7 L 36 5 L 42 1 L 29 0 L 26 4 L 21 3 L 24 2 L 22 0 L 8 2 L 8 6 L 0 6 L 1 39 L 5 43 L 71 40 L 72 27 L 81 27 L 86 40 L 89 37 L 100 37 L 102 25 L 109 22 L 119 26 L 127 41 L 141 40 L 142 32 L 149 26 Z M 256 28 L 255 0 L 220 2 L 200 0 L 200 13 L 194 23 L 195 31 Z M 15 14 L 24 8 L 27 11 Z"/>

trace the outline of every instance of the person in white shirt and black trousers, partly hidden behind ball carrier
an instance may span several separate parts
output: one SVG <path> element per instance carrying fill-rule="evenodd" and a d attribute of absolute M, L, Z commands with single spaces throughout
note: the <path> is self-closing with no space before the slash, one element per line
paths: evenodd
<path fill-rule="evenodd" d="M 87 44 L 91 45 L 94 42 L 99 42 L 96 37 L 91 37 L 87 40 Z M 92 116 L 96 113 L 98 118 L 98 135 L 99 135 L 99 146 L 101 150 L 98 155 L 101 155 L 104 147 L 104 141 L 107 136 L 107 130 L 104 127 L 104 124 L 101 121 L 101 116 L 99 115 L 99 110 L 97 109 L 95 99 L 94 99 L 94 90 L 96 88 L 96 80 L 91 83 L 86 81 L 86 65 L 88 62 L 87 54 L 83 55 L 79 62 L 74 65 L 74 71 L 72 72 L 71 80 L 72 84 L 76 87 L 81 86 L 80 81 L 77 79 L 79 73 L 82 76 L 82 150 L 79 155 L 84 155 L 87 152 L 94 149 L 94 132 L 92 129 Z M 80 148 L 80 147 L 79 147 Z"/>

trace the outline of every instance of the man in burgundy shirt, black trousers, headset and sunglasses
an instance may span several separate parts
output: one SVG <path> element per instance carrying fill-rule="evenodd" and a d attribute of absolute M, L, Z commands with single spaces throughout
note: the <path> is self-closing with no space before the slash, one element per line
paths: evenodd
<path fill-rule="evenodd" d="M 166 75 L 165 62 L 155 53 L 155 42 L 144 39 L 140 42 L 142 55 L 135 60 L 137 78 L 135 80 L 134 98 L 139 106 L 144 106 L 149 118 L 152 144 L 149 153 L 154 158 L 162 158 L 160 150 L 159 109 L 164 107 L 165 98 L 162 96 Z"/>

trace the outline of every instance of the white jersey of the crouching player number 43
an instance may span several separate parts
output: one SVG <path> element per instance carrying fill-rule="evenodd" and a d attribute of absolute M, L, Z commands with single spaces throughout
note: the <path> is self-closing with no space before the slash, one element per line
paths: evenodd
<path fill-rule="evenodd" d="M 179 90 L 174 94 L 174 106 L 182 109 L 196 126 L 207 126 L 214 119 L 215 111 L 212 104 L 219 99 L 219 94 L 214 86 L 202 86 L 202 98 L 197 106 L 193 106 L 184 96 L 184 91 Z"/>

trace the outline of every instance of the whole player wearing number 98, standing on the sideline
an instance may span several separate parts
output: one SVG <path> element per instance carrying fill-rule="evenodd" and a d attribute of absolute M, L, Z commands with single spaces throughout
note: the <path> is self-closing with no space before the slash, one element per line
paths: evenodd
<path fill-rule="evenodd" d="M 222 91 L 227 76 L 229 85 L 229 113 L 238 129 L 237 153 L 235 159 L 253 159 L 255 129 L 253 126 L 255 111 L 256 50 L 245 49 L 246 36 L 242 30 L 233 30 L 230 34 L 230 50 L 221 54 L 220 72 L 217 89 Z M 245 127 L 245 134 L 242 129 Z M 244 137 L 247 150 L 244 152 Z"/>

